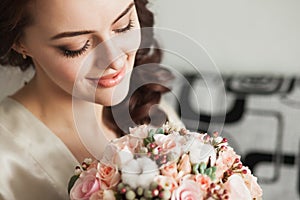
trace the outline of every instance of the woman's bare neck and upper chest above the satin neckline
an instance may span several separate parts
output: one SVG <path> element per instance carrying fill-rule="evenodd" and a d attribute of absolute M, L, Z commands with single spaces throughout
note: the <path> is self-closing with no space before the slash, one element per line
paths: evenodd
<path fill-rule="evenodd" d="M 70 94 L 58 86 L 41 82 L 35 76 L 12 98 L 23 104 L 56 134 L 78 160 L 89 156 L 86 149 L 100 158 L 108 141 L 116 137 L 103 124 L 103 106 L 72 99 Z M 85 148 L 83 144 L 86 144 Z"/>

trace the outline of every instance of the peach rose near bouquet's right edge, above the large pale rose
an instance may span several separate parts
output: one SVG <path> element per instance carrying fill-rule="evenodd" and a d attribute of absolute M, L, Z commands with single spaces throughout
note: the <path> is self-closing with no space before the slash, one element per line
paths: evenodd
<path fill-rule="evenodd" d="M 240 159 L 240 156 L 237 155 L 231 147 L 228 147 L 226 150 L 221 151 L 219 153 L 219 157 L 216 160 L 216 166 L 217 166 L 216 177 L 217 177 L 217 179 L 220 179 L 223 177 L 224 172 L 227 171 L 232 166 L 232 164 L 234 163 L 236 158 Z"/>

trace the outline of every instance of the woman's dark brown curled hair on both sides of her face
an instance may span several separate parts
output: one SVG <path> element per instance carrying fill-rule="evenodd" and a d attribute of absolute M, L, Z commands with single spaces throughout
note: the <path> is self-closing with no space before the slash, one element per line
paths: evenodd
<path fill-rule="evenodd" d="M 0 64 L 20 67 L 26 70 L 33 65 L 30 57 L 23 59 L 22 55 L 12 49 L 12 45 L 18 42 L 22 36 L 24 27 L 31 23 L 30 15 L 26 13 L 26 7 L 30 0 L 1 0 L 0 2 Z M 137 13 L 141 28 L 153 27 L 154 16 L 153 13 L 147 8 L 148 0 L 135 0 Z M 125 100 L 113 107 L 105 107 L 103 110 L 104 123 L 119 136 L 125 134 L 128 127 L 135 124 L 153 124 L 160 125 L 166 120 L 165 114 L 157 107 L 151 108 L 153 105 L 158 104 L 162 93 L 169 91 L 163 85 L 172 79 L 172 75 L 166 69 L 159 66 L 162 53 L 158 48 L 158 44 L 154 39 L 152 31 L 143 31 L 142 29 L 142 43 L 141 46 L 149 47 L 139 49 L 136 54 L 134 67 L 148 64 L 146 70 L 137 70 L 137 74 L 133 74 L 131 78 L 131 87 L 128 96 Z M 132 87 L 138 83 L 143 83 L 144 80 L 152 80 L 157 83 L 160 81 L 162 84 L 146 84 L 139 88 Z M 133 91 L 134 90 L 134 91 Z M 151 117 L 149 111 L 151 108 Z M 115 121 L 113 116 L 114 110 L 118 114 L 124 116 L 125 113 L 130 113 L 132 123 L 128 118 L 121 121 Z M 164 120 L 154 120 L 164 119 Z M 152 121 L 151 121 L 152 120 Z"/>

